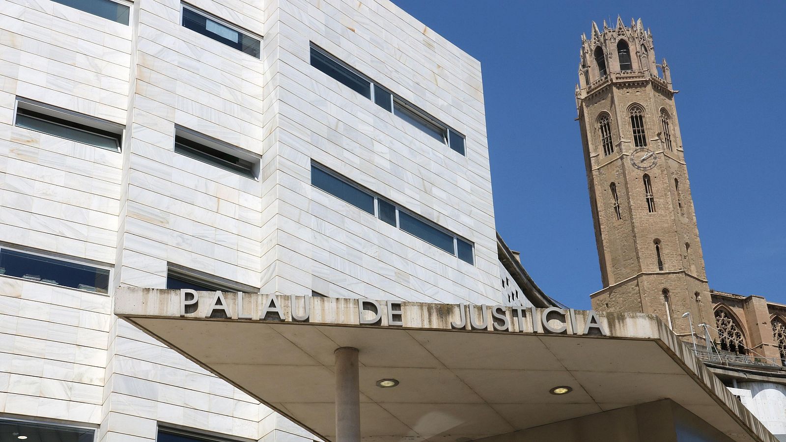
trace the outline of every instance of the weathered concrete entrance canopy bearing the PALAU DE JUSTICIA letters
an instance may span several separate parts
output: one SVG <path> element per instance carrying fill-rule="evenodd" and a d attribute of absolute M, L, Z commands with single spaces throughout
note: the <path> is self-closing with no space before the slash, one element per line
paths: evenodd
<path fill-rule="evenodd" d="M 533 333 L 538 325 L 526 321 L 518 330 L 511 308 L 503 309 L 509 331 L 492 331 L 492 321 L 488 330 L 451 330 L 454 304 L 402 303 L 404 325 L 388 326 L 380 303 L 381 321 L 368 326 L 358 323 L 357 300 L 307 299 L 310 322 L 295 322 L 289 297 L 278 297 L 284 321 L 259 320 L 270 296 L 248 294 L 241 311 L 255 319 L 242 320 L 232 318 L 234 293 L 223 294 L 231 313 L 222 319 L 206 318 L 214 293 L 199 293 L 196 310 L 181 316 L 178 291 L 119 292 L 117 315 L 326 440 L 335 440 L 339 347 L 359 350 L 363 440 L 474 440 L 665 398 L 732 440 L 775 440 L 649 315 L 601 315 L 609 336 L 574 333 L 589 320 L 581 311 L 572 325 L 564 316 L 564 333 Z M 384 378 L 400 384 L 382 389 Z M 560 385 L 573 391 L 549 392 Z"/>

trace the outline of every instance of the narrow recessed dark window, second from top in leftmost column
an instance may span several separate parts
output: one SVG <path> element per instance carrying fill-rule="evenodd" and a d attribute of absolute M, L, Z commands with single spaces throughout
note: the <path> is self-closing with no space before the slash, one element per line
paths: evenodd
<path fill-rule="evenodd" d="M 119 124 L 24 98 L 17 98 L 16 125 L 115 151 L 123 134 Z"/>

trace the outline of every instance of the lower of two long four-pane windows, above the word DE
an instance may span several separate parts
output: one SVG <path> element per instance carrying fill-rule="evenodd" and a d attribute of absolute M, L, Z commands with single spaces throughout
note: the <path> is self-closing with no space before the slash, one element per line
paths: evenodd
<path fill-rule="evenodd" d="M 377 218 L 393 227 L 413 234 L 415 237 L 457 256 L 462 261 L 475 264 L 475 246 L 472 242 L 450 233 L 443 227 L 436 226 L 419 215 L 414 215 L 406 209 L 400 208 L 399 205 L 377 196 L 370 190 L 361 190 L 360 186 L 354 185 L 335 172 L 323 169 L 323 166 L 311 164 L 311 183 L 343 201 L 362 208 L 371 215 L 376 215 Z"/>

